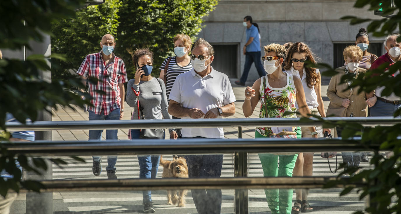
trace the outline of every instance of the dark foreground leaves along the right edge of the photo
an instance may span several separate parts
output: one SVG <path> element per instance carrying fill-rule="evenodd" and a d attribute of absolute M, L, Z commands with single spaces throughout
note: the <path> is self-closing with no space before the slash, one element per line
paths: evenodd
<path fill-rule="evenodd" d="M 381 5 L 379 5 L 382 3 Z M 389 18 L 383 18 L 378 16 L 379 19 L 367 19 L 358 18 L 355 16 L 342 17 L 343 20 L 350 20 L 351 24 L 358 24 L 362 22 L 369 22 L 368 32 L 373 33 L 374 36 L 383 37 L 390 35 L 395 32 L 397 27 L 401 29 L 401 1 L 395 0 L 395 7 L 391 6 L 391 0 L 356 0 L 354 7 L 363 8 L 369 7 L 369 12 L 373 13 L 373 10 L 383 8 L 383 16 Z M 394 13 L 394 14 L 393 14 Z M 392 16 L 389 16 L 393 14 Z M 401 37 L 398 38 L 401 41 Z M 391 93 L 401 97 L 401 75 L 392 76 L 397 70 L 401 70 L 401 62 L 396 62 L 387 71 L 388 63 L 379 66 L 377 69 L 371 69 L 366 74 L 359 75 L 356 80 L 349 86 L 355 87 L 360 86 L 359 92 L 372 92 L 378 87 L 385 86 L 382 95 L 388 96 Z M 315 65 L 317 67 L 328 68 L 330 66 L 326 64 Z M 336 71 L 333 68 L 328 69 L 326 73 L 322 75 L 333 75 Z M 349 75 L 344 75 L 342 81 L 345 82 L 350 79 Z M 394 116 L 400 116 L 401 110 L 395 112 Z M 344 123 L 338 124 L 326 124 L 326 126 L 338 125 L 344 127 L 342 132 L 343 139 L 349 139 L 352 141 L 354 135 L 362 136 L 360 143 L 365 145 L 367 148 L 375 148 L 374 145 L 379 145 L 375 148 L 375 155 L 371 159 L 373 169 L 362 169 L 360 173 L 354 174 L 358 168 L 350 167 L 340 174 L 350 174 L 348 181 L 336 181 L 330 182 L 326 187 L 330 188 L 336 183 L 342 183 L 346 185 L 346 188 L 341 195 L 347 194 L 350 191 L 356 189 L 360 194 L 360 199 L 369 196 L 369 206 L 365 209 L 369 213 L 380 213 L 380 214 L 391 214 L 401 213 L 401 124 L 395 124 L 393 126 L 375 126 L 375 127 L 363 127 L 355 123 Z M 394 155 L 383 155 L 379 153 L 379 150 L 392 151 Z M 363 181 L 366 186 L 363 188 L 354 188 L 353 182 Z M 362 213 L 362 212 L 356 212 Z"/>

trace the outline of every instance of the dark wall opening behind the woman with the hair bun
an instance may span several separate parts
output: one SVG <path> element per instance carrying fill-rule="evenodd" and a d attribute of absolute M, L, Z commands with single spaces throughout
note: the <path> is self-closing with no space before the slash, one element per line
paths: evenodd
<path fill-rule="evenodd" d="M 336 67 L 341 67 L 344 65 L 344 56 L 342 55 L 342 51 L 348 46 L 348 45 L 355 45 L 355 43 L 334 43 L 334 68 Z M 378 57 L 382 55 L 383 43 L 369 43 L 369 48 L 368 52 L 376 54 Z"/>

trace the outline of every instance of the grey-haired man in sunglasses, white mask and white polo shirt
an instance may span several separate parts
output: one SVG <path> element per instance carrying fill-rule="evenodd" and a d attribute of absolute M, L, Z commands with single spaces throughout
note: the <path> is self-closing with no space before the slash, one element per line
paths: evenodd
<path fill-rule="evenodd" d="M 177 76 L 170 92 L 168 113 L 182 119 L 222 118 L 235 113 L 235 96 L 224 73 L 211 66 L 213 47 L 198 39 L 192 49 L 192 70 Z M 223 128 L 183 128 L 182 138 L 221 138 Z M 186 155 L 189 177 L 220 177 L 223 155 Z M 191 190 L 200 214 L 220 213 L 221 190 Z"/>

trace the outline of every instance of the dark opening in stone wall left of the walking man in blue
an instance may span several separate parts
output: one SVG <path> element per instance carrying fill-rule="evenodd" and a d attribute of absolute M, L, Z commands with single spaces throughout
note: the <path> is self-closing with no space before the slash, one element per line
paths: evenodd
<path fill-rule="evenodd" d="M 225 73 L 229 78 L 238 78 L 238 44 L 212 44 L 215 60 L 212 63 L 216 71 Z"/>

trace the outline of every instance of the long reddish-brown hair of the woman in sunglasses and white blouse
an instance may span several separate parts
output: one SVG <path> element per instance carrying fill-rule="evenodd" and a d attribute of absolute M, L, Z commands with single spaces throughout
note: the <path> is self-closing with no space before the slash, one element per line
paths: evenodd
<path fill-rule="evenodd" d="M 305 43 L 302 42 L 296 42 L 294 45 L 288 49 L 288 54 L 287 54 L 287 59 L 286 59 L 286 65 L 284 66 L 284 69 L 290 70 L 292 67 L 292 55 L 294 53 L 305 53 L 306 59 L 311 61 L 312 63 L 316 64 L 314 54 L 306 45 Z M 318 85 L 320 82 L 320 79 L 318 78 L 318 74 L 316 73 L 316 68 L 313 67 L 304 67 L 305 68 L 305 73 L 306 73 L 306 83 L 308 85 L 308 88 L 312 88 L 313 86 Z"/>

